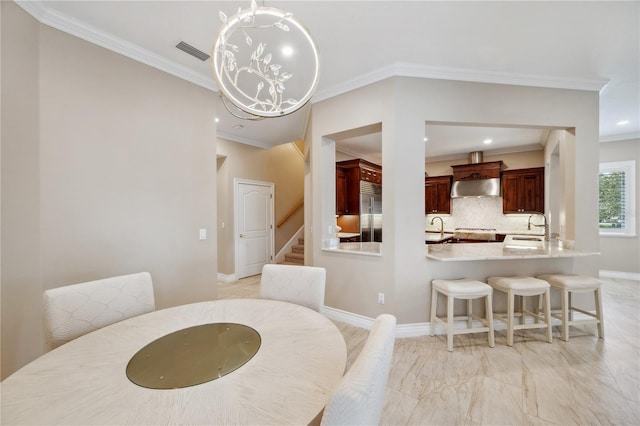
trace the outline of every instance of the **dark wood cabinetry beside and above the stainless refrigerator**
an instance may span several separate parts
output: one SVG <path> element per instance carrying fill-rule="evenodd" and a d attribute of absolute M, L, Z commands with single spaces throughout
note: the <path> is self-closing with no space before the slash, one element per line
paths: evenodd
<path fill-rule="evenodd" d="M 336 163 L 336 214 L 360 214 L 360 181 L 382 185 L 382 167 L 361 159 Z"/>

